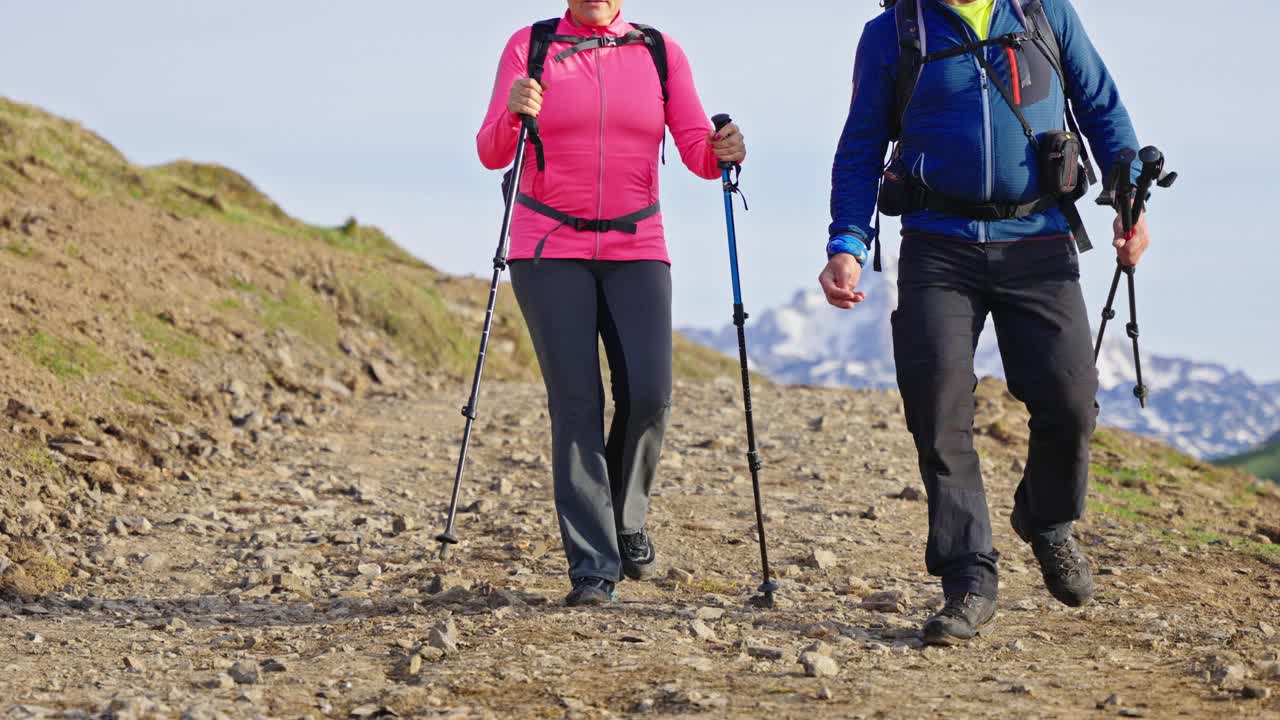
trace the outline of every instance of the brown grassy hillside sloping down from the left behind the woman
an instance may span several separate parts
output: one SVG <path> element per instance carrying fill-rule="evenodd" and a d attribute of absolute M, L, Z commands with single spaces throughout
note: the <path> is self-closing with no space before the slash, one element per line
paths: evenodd
<path fill-rule="evenodd" d="M 461 405 L 486 300 L 488 278 L 378 228 L 305 223 L 219 165 L 134 165 L 0 97 L 0 555 L 352 395 L 426 383 Z M 736 372 L 682 338 L 677 354 L 686 379 Z M 509 288 L 486 377 L 538 377 Z"/>

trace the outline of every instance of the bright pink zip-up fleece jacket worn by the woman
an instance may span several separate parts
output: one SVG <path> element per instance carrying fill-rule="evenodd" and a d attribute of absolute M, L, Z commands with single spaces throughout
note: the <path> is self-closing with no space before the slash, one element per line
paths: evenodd
<path fill-rule="evenodd" d="M 621 37 L 634 29 L 621 14 L 609 27 L 591 28 L 579 26 L 566 13 L 556 32 Z M 527 77 L 530 32 L 526 27 L 507 42 L 489 113 L 476 135 L 480 161 L 489 169 L 504 168 L 516 156 L 520 117 L 507 110 L 507 96 L 512 82 Z M 521 192 L 577 218 L 612 219 L 643 210 L 658 201 L 658 149 L 667 127 L 690 170 L 708 179 L 721 177 L 708 141 L 712 123 L 698 99 L 689 59 L 664 37 L 666 106 L 653 56 L 644 45 L 586 50 L 564 61 L 554 56 L 568 44 L 552 45 L 538 118 L 547 170 L 538 172 L 534 149 L 526 147 Z M 531 259 L 538 241 L 556 225 L 556 220 L 516 205 L 511 259 Z M 641 220 L 636 234 L 562 227 L 547 238 L 543 258 L 671 261 L 660 214 Z"/>

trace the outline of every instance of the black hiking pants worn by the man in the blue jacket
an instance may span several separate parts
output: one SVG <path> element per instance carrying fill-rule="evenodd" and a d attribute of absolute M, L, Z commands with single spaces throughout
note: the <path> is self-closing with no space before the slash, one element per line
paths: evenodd
<path fill-rule="evenodd" d="M 991 518 L 973 447 L 974 351 L 996 323 L 1009 389 L 1030 411 L 1015 524 L 1060 539 L 1084 515 L 1098 375 L 1075 245 L 908 237 L 893 356 L 929 498 L 925 565 L 943 592 L 997 596 Z"/>

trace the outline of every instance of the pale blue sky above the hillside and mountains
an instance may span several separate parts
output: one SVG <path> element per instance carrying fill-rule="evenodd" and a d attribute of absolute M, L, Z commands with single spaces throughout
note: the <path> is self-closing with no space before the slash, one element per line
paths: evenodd
<path fill-rule="evenodd" d="M 1076 0 L 1139 137 L 1183 176 L 1156 197 L 1157 246 L 1139 273 L 1148 348 L 1280 380 L 1272 247 L 1280 111 L 1268 42 L 1280 4 L 1236 0 L 1226 20 L 1193 0 Z M 8 3 L 0 94 L 69 115 L 134 161 L 230 165 L 315 223 L 347 215 L 425 260 L 488 274 L 498 173 L 475 159 L 498 54 L 561 0 L 41 0 Z M 795 8 L 796 10 L 790 10 Z M 673 35 L 708 111 L 748 136 L 739 232 L 749 309 L 809 287 L 823 264 L 835 142 L 854 47 L 876 0 L 783 4 L 626 0 Z M 730 316 L 719 188 L 663 170 L 680 324 Z M 1105 213 L 1087 215 L 1094 236 Z M 890 247 L 896 229 L 886 233 Z M 1114 269 L 1087 256 L 1100 306 Z M 1097 309 L 1094 309 L 1096 311 Z"/>

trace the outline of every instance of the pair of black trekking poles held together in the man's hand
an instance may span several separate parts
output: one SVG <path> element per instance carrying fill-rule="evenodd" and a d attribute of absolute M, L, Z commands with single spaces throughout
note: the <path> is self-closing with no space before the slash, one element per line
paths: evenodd
<path fill-rule="evenodd" d="M 1142 160 L 1142 173 L 1138 176 L 1137 187 L 1129 182 L 1129 168 L 1133 165 L 1134 159 Z M 1158 149 L 1147 146 L 1143 147 L 1142 152 L 1124 150 L 1116 159 L 1115 167 L 1111 168 L 1111 177 L 1102 196 L 1098 197 L 1098 204 L 1111 205 L 1116 209 L 1116 213 L 1120 215 L 1125 240 L 1133 240 L 1134 229 L 1147 208 L 1147 200 L 1151 197 L 1151 187 L 1155 184 L 1167 188 L 1172 187 L 1176 181 L 1178 173 L 1165 172 L 1165 155 Z M 1116 316 L 1115 296 L 1120 288 L 1120 275 L 1123 274 L 1128 278 L 1129 286 L 1129 323 L 1125 325 L 1125 333 L 1133 342 L 1133 368 L 1138 383 L 1133 388 L 1133 395 L 1138 398 L 1139 406 L 1147 407 L 1149 392 L 1142 379 L 1142 352 L 1138 348 L 1138 338 L 1142 336 L 1142 332 L 1138 328 L 1138 293 L 1134 287 L 1134 275 L 1137 272 L 1137 266 L 1125 265 L 1116 260 L 1116 274 L 1111 279 L 1107 305 L 1102 310 L 1102 327 L 1098 328 L 1098 341 L 1093 348 L 1093 361 L 1097 364 L 1098 356 L 1102 352 L 1102 337 L 1107 331 L 1107 322 L 1114 320 Z"/>

